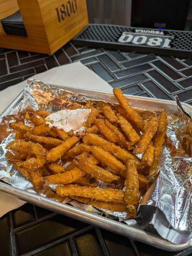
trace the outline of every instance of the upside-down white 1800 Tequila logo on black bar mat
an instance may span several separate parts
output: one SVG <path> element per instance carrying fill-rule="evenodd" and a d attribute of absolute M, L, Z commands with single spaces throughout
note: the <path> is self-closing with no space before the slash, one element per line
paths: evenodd
<path fill-rule="evenodd" d="M 170 48 L 173 36 L 165 36 L 163 31 L 136 29 L 135 32 L 124 31 L 118 42 L 133 45 L 147 45 L 148 47 Z"/>

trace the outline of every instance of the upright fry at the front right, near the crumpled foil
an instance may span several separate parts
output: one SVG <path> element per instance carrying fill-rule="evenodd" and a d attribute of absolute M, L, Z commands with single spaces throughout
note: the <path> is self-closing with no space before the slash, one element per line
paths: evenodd
<path fill-rule="evenodd" d="M 125 179 L 125 195 L 124 204 L 129 212 L 136 212 L 140 199 L 139 193 L 139 181 L 136 163 L 134 160 L 130 160 L 127 163 L 127 173 Z"/>

